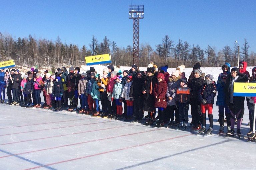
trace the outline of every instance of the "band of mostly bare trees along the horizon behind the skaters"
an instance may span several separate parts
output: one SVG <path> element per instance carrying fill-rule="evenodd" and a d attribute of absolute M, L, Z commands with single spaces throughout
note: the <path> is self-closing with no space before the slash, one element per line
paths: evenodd
<path fill-rule="evenodd" d="M 222 50 L 216 51 L 215 46 L 208 45 L 202 49 L 199 44 L 190 45 L 188 42 L 179 41 L 175 44 L 168 35 L 162 38 L 162 43 L 156 45 L 156 50 L 148 43 L 141 43 L 139 46 L 139 66 L 147 67 L 150 61 L 157 66 L 169 65 L 177 67 L 184 64 L 186 67 L 200 61 L 204 67 L 218 67 L 225 62 L 232 66 L 238 63 L 238 45 L 233 47 L 225 45 Z M 244 44 L 240 47 L 240 61 L 247 61 L 248 66 L 256 65 L 256 53 L 248 53 L 249 44 L 244 39 Z M 62 43 L 60 37 L 56 41 L 47 39 L 36 39 L 29 35 L 28 38 L 13 38 L 3 36 L 0 32 L 0 58 L 14 59 L 15 63 L 27 66 L 48 66 L 60 67 L 66 65 L 79 66 L 85 63 L 85 56 L 111 53 L 113 65 L 131 66 L 133 64 L 133 47 L 118 47 L 115 41 L 110 41 L 106 36 L 99 42 L 93 35 L 89 48 L 83 45 L 79 48 L 75 44 Z"/>

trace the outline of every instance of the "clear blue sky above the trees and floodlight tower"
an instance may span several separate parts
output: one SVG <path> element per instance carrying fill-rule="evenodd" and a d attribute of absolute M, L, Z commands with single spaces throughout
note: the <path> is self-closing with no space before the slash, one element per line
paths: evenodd
<path fill-rule="evenodd" d="M 215 45 L 221 50 L 234 42 L 256 52 L 255 0 L 1 0 L 0 32 L 24 38 L 86 45 L 92 36 L 107 36 L 117 46 L 133 45 L 133 20 L 129 5 L 144 5 L 139 21 L 139 42 L 153 49 L 168 35 L 174 43 Z M 250 52 L 249 52 L 250 53 Z"/>

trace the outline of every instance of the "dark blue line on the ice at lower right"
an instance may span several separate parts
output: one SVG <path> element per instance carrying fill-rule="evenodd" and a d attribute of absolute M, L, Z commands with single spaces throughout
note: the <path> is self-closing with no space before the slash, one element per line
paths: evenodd
<path fill-rule="evenodd" d="M 224 140 L 224 141 L 221 141 L 221 142 L 217 142 L 217 143 L 213 143 L 213 144 L 206 145 L 206 146 L 203 146 L 203 147 L 198 147 L 198 148 L 186 150 L 186 151 L 179 152 L 179 153 L 175 153 L 175 154 L 172 154 L 172 155 L 167 155 L 167 156 L 164 156 L 164 157 L 161 157 L 161 158 L 153 159 L 153 160 L 151 160 L 151 161 L 141 162 L 141 163 L 138 163 L 138 164 L 136 164 L 136 165 L 127 166 L 127 167 L 120 168 L 120 169 L 116 169 L 116 170 L 124 170 L 124 169 L 128 169 L 128 168 L 134 168 L 134 167 L 136 167 L 136 166 L 140 166 L 140 165 L 143 165 L 143 164 L 147 164 L 147 163 L 159 161 L 159 160 L 165 159 L 165 158 L 170 158 L 170 157 L 173 157 L 173 156 L 176 156 L 176 155 L 180 155 L 180 154 L 183 154 L 183 153 L 187 153 L 187 152 L 191 152 L 191 151 L 194 151 L 194 150 L 203 149 L 203 148 L 206 148 L 206 147 L 210 147 L 210 146 L 214 146 L 214 145 L 226 143 L 226 142 L 229 142 L 230 140 L 231 140 L 231 139 L 227 139 L 227 140 Z"/>

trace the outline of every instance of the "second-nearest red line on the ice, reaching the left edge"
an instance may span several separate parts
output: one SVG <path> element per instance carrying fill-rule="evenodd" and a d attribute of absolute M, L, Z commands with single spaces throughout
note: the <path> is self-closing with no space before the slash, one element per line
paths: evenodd
<path fill-rule="evenodd" d="M 153 129 L 153 130 L 141 131 L 141 132 L 136 132 L 136 133 L 122 134 L 119 136 L 112 136 L 112 137 L 107 137 L 107 138 L 102 138 L 102 139 L 94 139 L 94 140 L 89 140 L 89 141 L 85 141 L 85 142 L 72 143 L 72 144 L 67 144 L 67 145 L 62 145 L 62 146 L 51 147 L 51 148 L 33 150 L 33 151 L 29 151 L 29 152 L 23 152 L 23 153 L 17 153 L 17 154 L 13 154 L 13 155 L 2 156 L 0 158 L 14 156 L 14 155 L 21 155 L 21 154 L 26 154 L 26 153 L 32 153 L 32 152 L 38 152 L 38 151 L 44 151 L 44 150 L 49 150 L 49 149 L 56 149 L 56 148 L 60 148 L 60 147 L 72 146 L 72 145 L 77 145 L 77 144 L 95 142 L 95 141 L 100 141 L 100 140 L 112 139 L 112 138 L 117 138 L 117 137 L 129 136 L 129 135 L 134 135 L 134 134 L 146 133 L 146 132 L 151 132 L 151 131 L 156 131 L 156 130 L 160 130 L 160 129 Z"/>

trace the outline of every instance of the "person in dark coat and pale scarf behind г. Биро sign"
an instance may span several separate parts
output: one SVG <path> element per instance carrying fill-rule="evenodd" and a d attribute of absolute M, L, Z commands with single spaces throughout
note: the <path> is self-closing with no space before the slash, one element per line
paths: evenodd
<path fill-rule="evenodd" d="M 227 76 L 227 81 L 224 87 L 225 100 L 228 103 L 230 110 L 231 129 L 228 129 L 227 135 L 234 135 L 235 131 L 235 117 L 237 118 L 237 135 L 241 136 L 240 128 L 242 124 L 242 117 L 244 115 L 244 96 L 233 96 L 234 82 L 245 83 L 248 81 L 246 74 L 240 73 L 237 67 L 231 69 L 231 73 Z"/>

